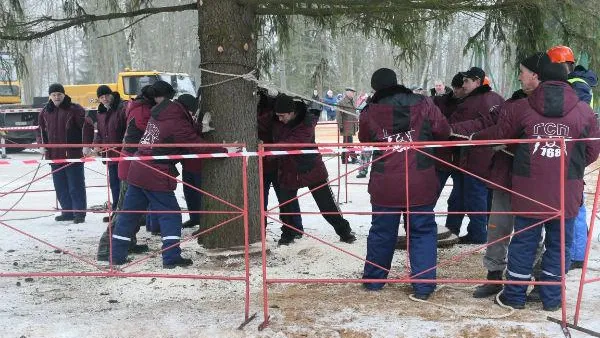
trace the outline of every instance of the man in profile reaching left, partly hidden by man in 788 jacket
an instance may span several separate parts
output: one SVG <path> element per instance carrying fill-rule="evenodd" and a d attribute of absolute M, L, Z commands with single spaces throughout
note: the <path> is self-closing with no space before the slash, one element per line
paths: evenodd
<path fill-rule="evenodd" d="M 471 135 L 477 132 L 475 138 L 489 138 L 486 135 L 496 132 L 498 117 L 500 112 L 506 112 L 511 105 L 520 104 L 519 100 L 526 98 L 539 86 L 540 74 L 550 59 L 546 53 L 535 53 L 519 65 L 519 81 L 521 89 L 513 93 L 512 97 L 499 107 L 492 111 L 490 116 L 482 116 L 476 120 L 460 122 L 452 125 L 452 131 L 461 135 Z M 490 244 L 483 257 L 483 265 L 488 270 L 488 280 L 502 280 L 502 275 L 506 269 L 506 254 L 510 234 L 513 231 L 514 216 L 510 215 L 511 193 L 500 187 L 511 189 L 511 176 L 513 166 L 513 156 L 516 145 L 506 145 L 494 147 L 494 157 L 491 162 L 491 171 L 489 180 L 497 185 L 488 184 L 492 189 L 492 206 L 488 220 L 487 242 L 492 243 L 507 237 L 497 243 Z M 500 187 L 499 187 L 500 186 Z M 473 292 L 473 297 L 484 298 L 496 295 L 502 290 L 501 284 L 483 284 L 478 286 Z"/>

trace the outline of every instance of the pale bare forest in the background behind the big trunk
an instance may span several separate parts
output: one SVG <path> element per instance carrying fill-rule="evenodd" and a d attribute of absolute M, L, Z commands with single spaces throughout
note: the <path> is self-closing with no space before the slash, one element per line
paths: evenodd
<path fill-rule="evenodd" d="M 60 2 L 23 1 L 31 14 L 60 16 Z M 81 2 L 80 2 L 81 3 Z M 85 3 L 85 2 L 83 2 Z M 173 4 L 163 1 L 162 4 Z M 160 2 L 155 3 L 161 5 Z M 105 5 L 89 0 L 87 12 L 106 12 Z M 481 29 L 484 15 L 458 13 L 449 26 L 423 23 L 414 38 L 422 50 L 402 50 L 384 38 L 360 31 L 323 29 L 313 21 L 293 16 L 289 37 L 280 39 L 265 25 L 259 37 L 261 77 L 292 92 L 310 95 L 314 88 L 322 96 L 347 86 L 359 92 L 370 90 L 370 77 L 379 67 L 392 67 L 407 86 L 431 88 L 436 79 L 450 82 L 458 71 L 476 65 L 490 75 L 493 88 L 508 95 L 518 85 L 516 67 L 507 64 L 507 46 L 483 44 L 465 49 L 469 37 Z M 28 73 L 22 80 L 24 102 L 47 95 L 50 83 L 108 83 L 126 67 L 191 74 L 199 81 L 200 55 L 197 13 L 194 11 L 150 16 L 134 26 L 116 19 L 95 23 L 91 28 L 69 28 L 29 42 L 24 51 Z M 282 48 L 285 47 L 285 48 Z M 510 47 L 510 46 L 508 46 Z M 200 85 L 197 83 L 197 85 Z"/>

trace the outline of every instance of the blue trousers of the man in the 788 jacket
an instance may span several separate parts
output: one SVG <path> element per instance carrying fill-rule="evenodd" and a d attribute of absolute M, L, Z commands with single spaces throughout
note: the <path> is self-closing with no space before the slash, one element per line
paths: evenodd
<path fill-rule="evenodd" d="M 515 232 L 531 226 L 541 220 L 515 217 Z M 569 271 L 570 248 L 573 241 L 574 218 L 565 219 L 565 271 Z M 558 282 L 560 271 L 560 220 L 552 220 L 535 226 L 525 232 L 513 235 L 508 246 L 507 280 L 530 281 L 538 243 L 542 238 L 542 227 L 546 230 L 544 245 L 546 251 L 542 257 L 540 281 Z M 513 304 L 525 304 L 527 285 L 504 286 L 502 293 Z M 560 304 L 560 285 L 540 285 L 540 297 L 545 307 Z"/>

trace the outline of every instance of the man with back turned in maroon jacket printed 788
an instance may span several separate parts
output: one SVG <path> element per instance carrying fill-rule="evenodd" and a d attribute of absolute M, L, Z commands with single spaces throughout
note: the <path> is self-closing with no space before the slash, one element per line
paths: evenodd
<path fill-rule="evenodd" d="M 527 97 L 502 108 L 495 133 L 475 134 L 473 139 L 547 139 L 568 140 L 596 138 L 598 125 L 592 109 L 580 101 L 567 82 L 561 65 L 546 64 L 541 70 L 542 83 Z M 512 211 L 514 232 L 508 247 L 506 276 L 511 281 L 530 281 L 542 227 L 546 231 L 546 252 L 542 258 L 540 281 L 559 282 L 569 269 L 570 247 L 565 246 L 565 270 L 561 271 L 560 219 L 554 210 L 561 209 L 560 182 L 564 180 L 564 238 L 573 239 L 573 222 L 583 195 L 585 167 L 598 158 L 600 144 L 593 141 L 521 143 L 514 152 L 512 171 Z M 560 161 L 567 163 L 560 177 Z M 524 197 L 521 197 L 524 196 Z M 548 207 L 550 208 L 548 208 Z M 532 214 L 528 214 L 532 213 Z M 554 217 L 553 217 L 554 216 Z M 537 224 L 537 225 L 536 225 Z M 561 306 L 559 285 L 540 285 L 540 298 L 546 311 Z M 507 284 L 499 300 L 523 309 L 527 285 Z"/>

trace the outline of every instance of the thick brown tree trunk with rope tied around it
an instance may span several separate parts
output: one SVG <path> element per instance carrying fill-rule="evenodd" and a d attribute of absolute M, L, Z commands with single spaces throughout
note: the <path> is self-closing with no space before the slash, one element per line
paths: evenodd
<path fill-rule="evenodd" d="M 244 74 L 257 65 L 255 8 L 235 0 L 199 1 L 198 38 L 203 68 L 229 74 Z M 209 85 L 227 77 L 202 72 L 201 84 Z M 238 79 L 202 90 L 201 106 L 211 112 L 215 131 L 206 139 L 211 143 L 244 142 L 249 150 L 257 147 L 256 85 Z M 252 99 L 250 99 L 252 98 Z M 256 157 L 249 158 L 248 195 L 250 241 L 259 238 L 258 166 Z M 204 189 L 236 206 L 243 207 L 242 159 L 210 159 L 202 171 Z M 202 209 L 234 211 L 222 202 L 203 196 Z M 206 214 L 201 229 L 213 227 L 232 215 Z M 244 244 L 243 221 L 234 221 L 200 236 L 198 242 L 207 248 L 226 248 Z"/>

